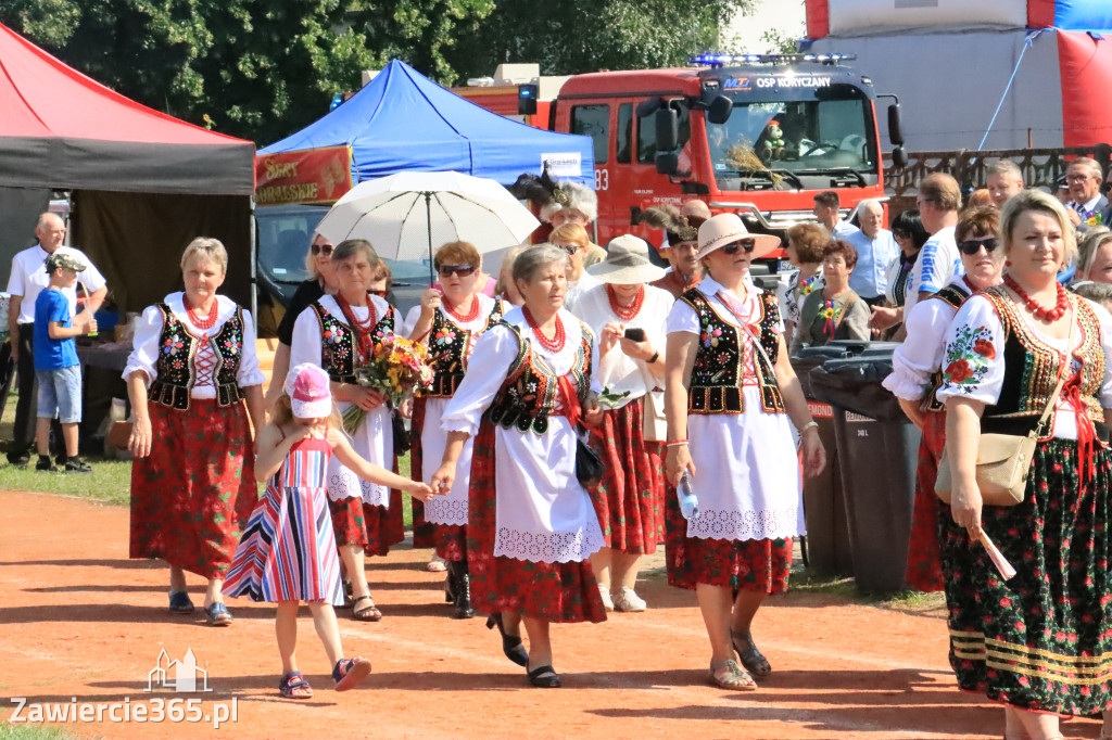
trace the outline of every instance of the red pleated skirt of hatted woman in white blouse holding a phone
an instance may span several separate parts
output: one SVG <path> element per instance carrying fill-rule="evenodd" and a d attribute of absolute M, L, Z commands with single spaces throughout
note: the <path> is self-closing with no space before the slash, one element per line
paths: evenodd
<path fill-rule="evenodd" d="M 646 442 L 645 399 L 603 413 L 603 422 L 590 430 L 590 447 L 606 463 L 606 472 L 590 497 L 606 547 L 629 554 L 656 552 L 664 466 L 659 443 Z"/>

